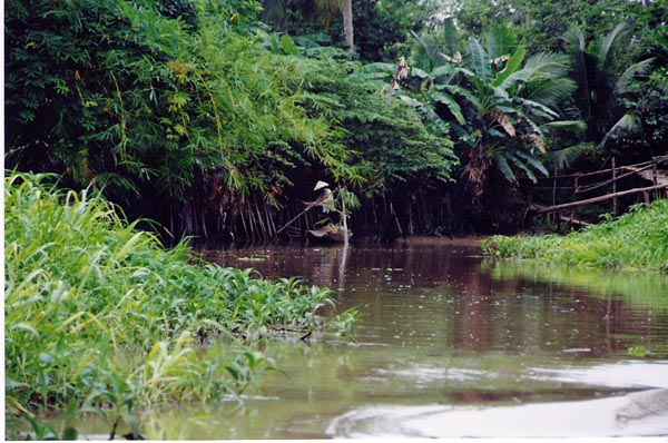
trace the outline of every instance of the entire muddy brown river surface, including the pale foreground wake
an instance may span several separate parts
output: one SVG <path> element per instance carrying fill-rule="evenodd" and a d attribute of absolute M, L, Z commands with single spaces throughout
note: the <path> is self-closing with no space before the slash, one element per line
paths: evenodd
<path fill-rule="evenodd" d="M 354 343 L 272 341 L 284 373 L 153 411 L 148 439 L 668 435 L 666 275 L 494 263 L 477 240 L 202 254 L 331 287 L 362 323 Z"/>

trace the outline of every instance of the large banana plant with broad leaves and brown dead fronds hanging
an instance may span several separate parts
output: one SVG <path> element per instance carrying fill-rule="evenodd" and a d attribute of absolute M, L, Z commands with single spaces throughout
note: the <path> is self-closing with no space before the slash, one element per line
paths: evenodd
<path fill-rule="evenodd" d="M 583 122 L 563 117 L 559 106 L 576 90 L 568 78 L 568 57 L 527 49 L 505 26 L 493 27 L 482 40 L 469 38 L 465 47 L 446 21 L 443 37 L 413 35 L 411 78 L 395 93 L 414 107 L 433 109 L 459 141 L 463 176 L 481 196 L 492 167 L 509 181 L 518 176 L 532 181 L 548 175 L 541 156 L 551 145 L 550 134 L 581 131 Z M 444 48 L 445 52 L 434 48 Z M 464 52 L 464 56 L 460 52 Z M 375 77 L 394 73 L 395 67 L 365 67 Z M 418 92 L 409 99 L 407 91 Z"/>

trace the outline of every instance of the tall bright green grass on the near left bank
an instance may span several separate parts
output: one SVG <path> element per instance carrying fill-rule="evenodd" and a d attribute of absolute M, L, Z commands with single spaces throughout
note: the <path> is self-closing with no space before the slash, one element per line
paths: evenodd
<path fill-rule="evenodd" d="M 88 190 L 61 191 L 49 176 L 6 178 L 6 417 L 45 431 L 40 410 L 94 411 L 111 434 L 160 402 L 215 401 L 272 368 L 256 339 L 272 329 L 308 333 L 355 324 L 327 319 L 327 289 L 269 282 L 252 270 L 197 263 L 185 243 L 163 247 Z M 244 339 L 236 353 L 203 345 Z"/>

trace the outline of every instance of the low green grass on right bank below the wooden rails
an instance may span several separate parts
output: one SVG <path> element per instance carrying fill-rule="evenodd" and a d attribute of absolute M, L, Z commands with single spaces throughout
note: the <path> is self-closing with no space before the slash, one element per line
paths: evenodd
<path fill-rule="evenodd" d="M 656 200 L 649 208 L 636 205 L 619 218 L 607 217 L 567 236 L 494 236 L 482 247 L 484 254 L 501 258 L 668 272 L 668 200 Z"/>

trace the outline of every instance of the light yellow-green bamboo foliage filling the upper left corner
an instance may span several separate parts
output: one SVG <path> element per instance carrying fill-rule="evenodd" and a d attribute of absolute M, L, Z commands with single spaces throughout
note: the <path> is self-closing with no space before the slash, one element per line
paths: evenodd
<path fill-rule="evenodd" d="M 334 157 L 330 125 L 298 106 L 295 59 L 244 32 L 244 3 L 200 3 L 195 32 L 150 2 L 10 3 L 10 165 L 184 199 L 197 176 L 245 194 L 302 149 Z"/>

